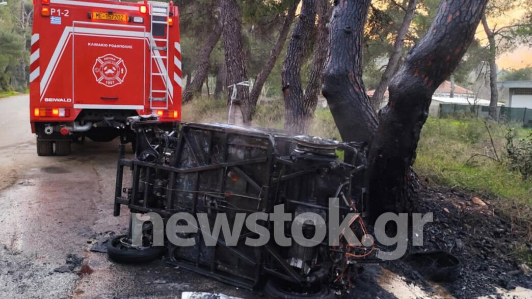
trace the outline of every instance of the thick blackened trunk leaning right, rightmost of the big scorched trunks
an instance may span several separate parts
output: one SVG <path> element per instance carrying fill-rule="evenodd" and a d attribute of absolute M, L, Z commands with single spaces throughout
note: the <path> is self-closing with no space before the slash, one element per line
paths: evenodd
<path fill-rule="evenodd" d="M 389 86 L 390 99 L 368 157 L 373 219 L 409 211 L 409 178 L 431 97 L 461 61 L 475 36 L 487 0 L 442 0 L 436 18 L 406 56 Z"/>

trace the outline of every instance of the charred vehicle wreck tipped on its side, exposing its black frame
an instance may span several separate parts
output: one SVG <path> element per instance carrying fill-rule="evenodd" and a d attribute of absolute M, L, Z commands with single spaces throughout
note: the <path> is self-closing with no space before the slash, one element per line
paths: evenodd
<path fill-rule="evenodd" d="M 313 212 L 327 221 L 332 197 L 339 198 L 340 221 L 348 213 L 364 215 L 365 156 L 360 144 L 228 124 L 185 123 L 168 132 L 157 127 L 154 117 L 134 117 L 130 123 L 137 135 L 135 159 L 125 158 L 122 145 L 115 216 L 121 205 L 131 213 L 155 212 L 165 223 L 179 212 L 206 213 L 212 229 L 218 213 L 234 223 L 237 213 L 270 213 L 284 204 L 293 216 Z M 343 152 L 344 161 L 338 152 Z M 276 298 L 334 297 L 345 292 L 357 264 L 367 262 L 374 249 L 351 246 L 344 238 L 338 246 L 329 246 L 328 237 L 313 247 L 296 242 L 279 246 L 273 237 L 263 246 L 251 247 L 244 239 L 256 234 L 246 227 L 236 246 L 228 246 L 223 234 L 215 246 L 206 246 L 198 231 L 182 236 L 194 238 L 194 246 L 180 247 L 165 239 L 164 246 L 154 247 L 146 223 L 143 246 L 131 244 L 130 227 L 129 235 L 112 239 L 110 257 L 127 262 L 166 254 L 180 269 L 250 290 L 264 289 L 265 295 Z M 271 222 L 257 223 L 273 236 Z M 349 223 L 356 235 L 367 233 L 361 216 Z M 311 238 L 314 226 L 300 224 L 304 236 Z M 285 228 L 291 225 L 285 222 Z"/>

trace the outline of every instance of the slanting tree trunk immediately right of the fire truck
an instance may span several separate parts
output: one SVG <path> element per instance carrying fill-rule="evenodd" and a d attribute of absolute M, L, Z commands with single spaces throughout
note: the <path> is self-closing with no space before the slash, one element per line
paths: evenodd
<path fill-rule="evenodd" d="M 183 103 L 190 102 L 194 97 L 194 94 L 201 93 L 203 82 L 208 76 L 209 67 L 211 66 L 209 60 L 211 52 L 214 49 L 214 46 L 216 46 L 216 44 L 218 43 L 221 34 L 222 27 L 221 24 L 218 23 L 214 26 L 214 30 L 209 35 L 209 37 L 205 41 L 205 44 L 200 49 L 200 54 L 198 54 L 197 56 L 198 67 L 196 69 L 194 79 L 190 82 L 190 84 L 187 84 L 187 86 L 185 87 L 185 92 L 183 93 L 182 97 Z"/>

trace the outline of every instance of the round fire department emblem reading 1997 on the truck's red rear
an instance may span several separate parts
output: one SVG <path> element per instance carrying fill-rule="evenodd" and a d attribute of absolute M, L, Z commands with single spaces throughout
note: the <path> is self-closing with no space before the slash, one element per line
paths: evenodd
<path fill-rule="evenodd" d="M 127 72 L 124 61 L 113 54 L 98 57 L 93 67 L 96 82 L 107 87 L 122 84 Z"/>

